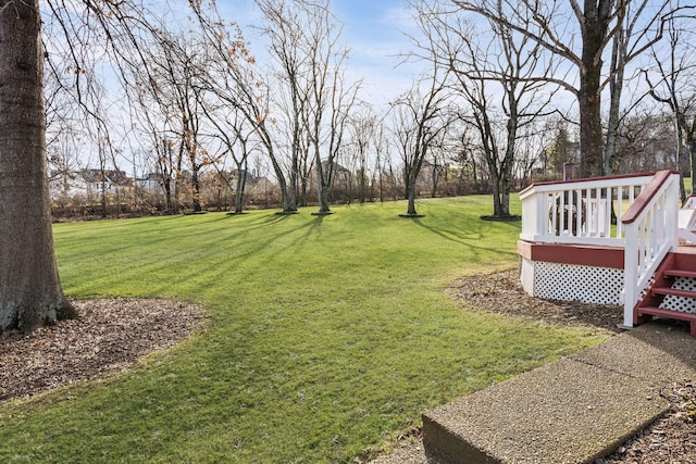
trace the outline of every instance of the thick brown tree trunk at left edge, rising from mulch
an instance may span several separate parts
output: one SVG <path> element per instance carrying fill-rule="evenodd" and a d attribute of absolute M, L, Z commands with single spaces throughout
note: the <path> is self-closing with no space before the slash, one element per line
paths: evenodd
<path fill-rule="evenodd" d="M 0 330 L 74 315 L 53 252 L 45 138 L 38 0 L 0 0 Z"/>

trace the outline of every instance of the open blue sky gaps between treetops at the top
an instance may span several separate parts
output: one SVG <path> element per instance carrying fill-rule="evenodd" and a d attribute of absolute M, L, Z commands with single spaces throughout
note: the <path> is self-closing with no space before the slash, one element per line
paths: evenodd
<path fill-rule="evenodd" d="M 260 21 L 252 0 L 220 0 L 219 5 L 228 20 L 237 22 L 251 47 L 254 34 L 248 27 Z M 362 78 L 362 98 L 382 105 L 406 91 L 415 76 L 413 65 L 396 66 L 399 54 L 409 48 L 403 32 L 413 30 L 413 22 L 402 0 L 333 0 L 332 12 L 344 23 L 343 40 L 350 48 L 347 63 L 349 77 Z M 261 58 L 261 57 L 259 57 Z"/>

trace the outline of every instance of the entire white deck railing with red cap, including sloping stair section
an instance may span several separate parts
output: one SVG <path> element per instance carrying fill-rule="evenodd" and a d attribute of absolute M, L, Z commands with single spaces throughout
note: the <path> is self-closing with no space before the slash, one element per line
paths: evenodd
<path fill-rule="evenodd" d="M 624 325 L 633 326 L 638 298 L 679 244 L 679 173 L 535 184 L 520 198 L 522 240 L 624 249 Z"/>

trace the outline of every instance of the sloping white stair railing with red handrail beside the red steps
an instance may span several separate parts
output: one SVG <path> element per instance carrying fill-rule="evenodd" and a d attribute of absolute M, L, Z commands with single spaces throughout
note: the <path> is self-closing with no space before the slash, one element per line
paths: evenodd
<path fill-rule="evenodd" d="M 679 173 L 661 171 L 645 187 L 621 223 L 625 231 L 623 324 L 667 253 L 679 246 Z"/>

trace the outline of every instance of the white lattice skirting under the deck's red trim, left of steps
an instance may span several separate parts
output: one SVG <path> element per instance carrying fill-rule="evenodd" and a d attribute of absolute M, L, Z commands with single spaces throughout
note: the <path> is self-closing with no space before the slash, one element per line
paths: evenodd
<path fill-rule="evenodd" d="M 522 258 L 520 280 L 532 297 L 545 300 L 621 304 L 623 269 L 530 261 Z"/>

